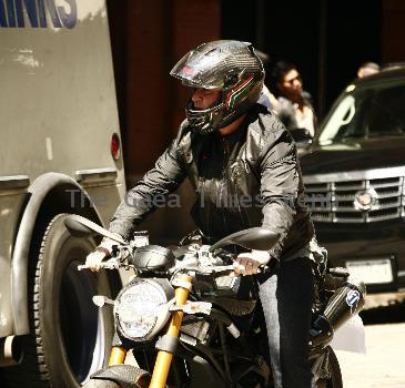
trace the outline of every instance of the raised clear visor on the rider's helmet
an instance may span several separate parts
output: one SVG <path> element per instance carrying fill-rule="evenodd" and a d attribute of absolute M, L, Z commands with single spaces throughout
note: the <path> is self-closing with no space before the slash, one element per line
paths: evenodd
<path fill-rule="evenodd" d="M 184 85 L 204 89 L 223 89 L 223 73 L 217 69 L 225 60 L 225 54 L 217 52 L 200 54 L 198 51 L 186 53 L 172 69 L 171 75 L 180 79 Z"/>

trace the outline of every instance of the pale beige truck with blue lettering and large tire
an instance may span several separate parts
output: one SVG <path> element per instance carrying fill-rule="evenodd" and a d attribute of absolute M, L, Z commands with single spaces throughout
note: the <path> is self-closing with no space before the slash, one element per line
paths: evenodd
<path fill-rule="evenodd" d="M 120 285 L 63 223 L 125 190 L 105 0 L 0 0 L 0 386 L 79 387 L 112 334 L 91 296 Z"/>

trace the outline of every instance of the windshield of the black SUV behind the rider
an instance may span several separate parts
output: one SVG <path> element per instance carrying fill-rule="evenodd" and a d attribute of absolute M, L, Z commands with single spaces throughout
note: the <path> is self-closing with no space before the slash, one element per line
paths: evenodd
<path fill-rule="evenodd" d="M 327 145 L 405 132 L 405 84 L 374 84 L 356 90 L 350 85 L 324 125 L 318 143 Z"/>

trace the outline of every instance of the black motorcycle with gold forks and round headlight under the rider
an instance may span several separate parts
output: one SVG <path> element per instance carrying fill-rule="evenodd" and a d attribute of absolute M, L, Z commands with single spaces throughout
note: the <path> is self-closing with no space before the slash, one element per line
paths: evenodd
<path fill-rule="evenodd" d="M 112 307 L 115 335 L 109 365 L 93 374 L 85 388 L 272 386 L 255 283 L 252 276 L 232 276 L 234 254 L 225 247 L 267 251 L 277 234 L 253 227 L 212 245 L 202 244 L 196 235 L 170 249 L 146 244 L 145 236 L 126 242 L 78 215 L 71 215 L 65 226 L 75 236 L 113 239 L 117 245 L 102 268 L 132 272 L 115 300 L 93 297 L 98 307 Z M 364 284 L 348 283 L 347 276 L 336 268 L 320 277 L 308 333 L 308 358 L 318 388 L 343 387 L 330 343 L 364 306 Z"/>

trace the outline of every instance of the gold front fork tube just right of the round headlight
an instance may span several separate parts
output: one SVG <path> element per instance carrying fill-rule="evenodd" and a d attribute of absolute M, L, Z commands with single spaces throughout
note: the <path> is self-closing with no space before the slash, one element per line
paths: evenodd
<path fill-rule="evenodd" d="M 189 292 L 192 284 L 192 277 L 189 275 L 180 274 L 176 277 L 179 287 L 175 289 L 175 303 L 178 306 L 185 305 L 189 297 Z M 173 312 L 170 318 L 166 336 L 179 338 L 181 323 L 183 319 L 183 312 Z M 170 365 L 173 359 L 173 354 L 164 350 L 159 350 L 156 363 L 154 364 L 152 380 L 149 388 L 164 388 Z"/>

